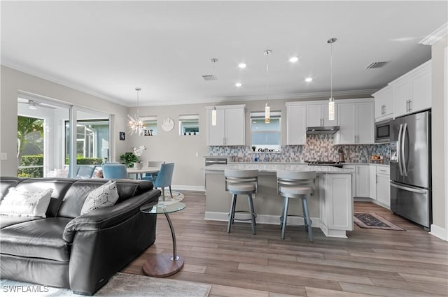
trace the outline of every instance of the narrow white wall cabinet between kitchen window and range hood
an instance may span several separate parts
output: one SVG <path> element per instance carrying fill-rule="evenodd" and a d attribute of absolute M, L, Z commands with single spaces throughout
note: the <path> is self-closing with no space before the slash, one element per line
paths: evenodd
<path fill-rule="evenodd" d="M 307 107 L 286 104 L 286 145 L 307 143 Z"/>

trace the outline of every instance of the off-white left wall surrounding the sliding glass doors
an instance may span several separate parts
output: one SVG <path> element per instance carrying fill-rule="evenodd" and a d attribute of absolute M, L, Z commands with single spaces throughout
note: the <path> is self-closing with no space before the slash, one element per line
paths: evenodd
<path fill-rule="evenodd" d="M 1 176 L 17 176 L 16 139 L 19 91 L 114 115 L 116 120 L 112 126 L 113 135 L 111 135 L 111 144 L 114 150 L 112 150 L 111 156 L 118 159 L 120 152 L 125 151 L 125 148 L 129 146 L 127 140 L 118 140 L 118 131 L 126 131 L 125 115 L 127 115 L 127 108 L 125 106 L 1 66 L 0 152 L 6 153 L 8 157 L 6 160 L 1 160 Z"/>

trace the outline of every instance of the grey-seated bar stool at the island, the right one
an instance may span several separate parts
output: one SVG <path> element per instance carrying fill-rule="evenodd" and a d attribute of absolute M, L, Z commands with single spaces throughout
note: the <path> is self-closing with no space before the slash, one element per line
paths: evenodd
<path fill-rule="evenodd" d="M 285 239 L 289 198 L 301 198 L 305 230 L 308 231 L 309 241 L 313 242 L 307 196 L 313 193 L 315 180 L 316 171 L 277 171 L 277 191 L 284 197 L 283 211 L 280 217 L 281 239 Z"/>

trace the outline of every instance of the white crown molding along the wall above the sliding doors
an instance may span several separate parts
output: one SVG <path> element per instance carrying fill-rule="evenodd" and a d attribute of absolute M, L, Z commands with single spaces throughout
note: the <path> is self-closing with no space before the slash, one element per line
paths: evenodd
<path fill-rule="evenodd" d="M 21 71 L 23 73 L 27 73 L 29 75 L 34 75 L 37 78 L 41 78 L 43 80 L 48 80 L 50 82 L 55 82 L 55 83 L 57 83 L 59 85 L 63 85 L 64 87 L 69 87 L 70 89 L 75 89 L 76 91 L 83 92 L 85 94 L 89 94 L 89 95 L 98 97 L 99 99 L 104 99 L 106 101 L 110 101 L 110 102 L 116 103 L 116 104 L 118 104 L 120 106 L 125 106 L 125 105 L 123 105 L 123 101 L 121 101 L 121 100 L 119 100 L 117 98 L 104 96 L 103 94 L 99 94 L 97 92 L 92 92 L 92 90 L 84 89 L 83 87 L 79 87 L 78 85 L 75 85 L 75 84 L 73 84 L 73 82 L 69 82 L 68 80 L 61 80 L 60 78 L 55 78 L 55 76 L 48 75 L 48 73 L 43 73 L 43 72 L 38 71 L 38 70 L 36 70 L 34 68 L 30 68 L 30 67 L 24 66 L 22 64 L 17 64 L 17 63 L 15 63 L 13 61 L 2 59 L 1 62 L 0 62 L 0 65 L 6 66 L 8 68 L 12 68 L 12 69 L 17 70 L 17 71 Z M 125 107 L 127 107 L 127 106 L 125 106 Z"/>

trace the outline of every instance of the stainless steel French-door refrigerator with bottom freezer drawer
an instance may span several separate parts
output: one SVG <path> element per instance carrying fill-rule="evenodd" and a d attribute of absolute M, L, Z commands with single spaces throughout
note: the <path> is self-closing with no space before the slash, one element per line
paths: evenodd
<path fill-rule="evenodd" d="M 431 196 L 430 110 L 391 121 L 391 210 L 430 229 Z"/>

